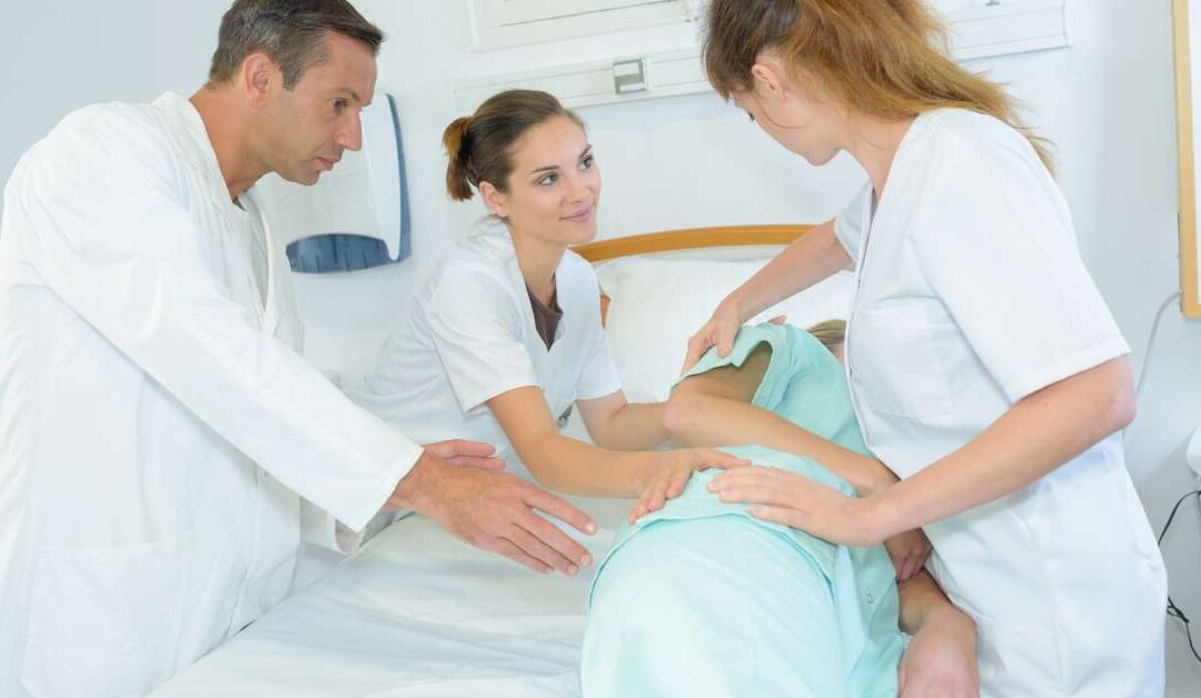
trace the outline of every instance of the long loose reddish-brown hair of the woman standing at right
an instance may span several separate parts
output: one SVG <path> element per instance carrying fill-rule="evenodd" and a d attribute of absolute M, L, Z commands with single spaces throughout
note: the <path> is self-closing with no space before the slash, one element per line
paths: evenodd
<path fill-rule="evenodd" d="M 1005 89 L 950 58 L 946 28 L 925 0 L 711 0 L 706 24 L 705 72 L 723 97 L 749 91 L 751 68 L 772 50 L 865 114 L 955 107 L 999 119 L 1053 171 L 1048 142 L 1022 123 Z"/>

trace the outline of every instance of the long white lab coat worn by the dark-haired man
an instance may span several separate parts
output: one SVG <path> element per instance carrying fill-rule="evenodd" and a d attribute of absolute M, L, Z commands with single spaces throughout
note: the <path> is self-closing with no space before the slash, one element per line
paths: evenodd
<path fill-rule="evenodd" d="M 173 94 L 67 117 L 5 189 L 0 696 L 144 694 L 283 597 L 298 494 L 360 529 L 420 453 L 297 353 L 244 205 Z"/>

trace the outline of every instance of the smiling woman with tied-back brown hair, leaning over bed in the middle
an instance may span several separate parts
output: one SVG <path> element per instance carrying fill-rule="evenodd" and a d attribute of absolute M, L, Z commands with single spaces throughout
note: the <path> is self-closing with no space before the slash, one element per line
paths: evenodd
<path fill-rule="evenodd" d="M 596 274 L 568 249 L 596 237 L 600 197 L 579 117 L 546 93 L 510 90 L 455 119 L 443 144 L 450 198 L 478 191 L 492 216 L 425 281 L 352 396 L 406 434 L 470 434 L 514 475 L 637 499 L 638 512 L 661 508 L 694 470 L 745 465 L 707 448 L 647 451 L 667 440 L 663 406 L 626 401 Z M 561 434 L 573 408 L 597 446 Z M 515 550 L 536 532 L 498 535 Z M 560 562 L 569 574 L 581 567 Z"/>

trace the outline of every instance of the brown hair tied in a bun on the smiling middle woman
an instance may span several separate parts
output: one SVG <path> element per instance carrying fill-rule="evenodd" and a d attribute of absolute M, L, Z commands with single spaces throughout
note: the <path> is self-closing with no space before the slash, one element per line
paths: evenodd
<path fill-rule="evenodd" d="M 581 129 L 584 121 L 552 95 L 536 90 L 508 90 L 488 99 L 471 117 L 460 117 L 442 133 L 447 149 L 447 193 L 454 201 L 472 197 L 471 187 L 491 183 L 508 191 L 513 173 L 513 145 L 526 131 L 555 117 L 566 117 Z"/>

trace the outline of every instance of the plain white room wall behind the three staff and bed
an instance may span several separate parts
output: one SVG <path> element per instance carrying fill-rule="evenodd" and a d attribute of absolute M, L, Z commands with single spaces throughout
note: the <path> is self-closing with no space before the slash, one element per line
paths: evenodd
<path fill-rule="evenodd" d="M 417 276 L 479 215 L 442 192 L 442 127 L 456 114 L 450 79 L 473 72 L 670 48 L 659 29 L 526 47 L 498 56 L 467 50 L 464 0 L 359 0 L 389 35 L 381 90 L 399 101 L 413 213 L 413 257 L 393 269 L 300 279 L 310 353 L 321 365 L 364 370 Z M 204 78 L 227 0 L 5 1 L 0 5 L 0 177 L 71 108 L 102 100 L 190 93 Z M 1176 155 L 1167 0 L 1074 0 L 1074 47 L 974 64 L 1011 84 L 1032 121 L 1058 145 L 1059 180 L 1086 259 L 1142 366 L 1152 316 L 1178 284 Z M 605 177 L 607 237 L 735 222 L 829 217 L 862 180 L 854 163 L 814 171 L 775 147 L 740 112 L 693 95 L 582 112 Z M 1160 328 L 1130 469 L 1153 525 L 1187 490 L 1183 448 L 1201 423 L 1201 322 L 1172 308 Z M 1166 542 L 1173 597 L 1201 618 L 1201 515 L 1187 508 Z M 1196 696 L 1201 668 L 1170 624 L 1173 694 Z M 1201 628 L 1194 633 L 1201 640 Z"/>

